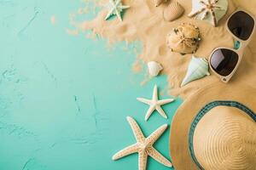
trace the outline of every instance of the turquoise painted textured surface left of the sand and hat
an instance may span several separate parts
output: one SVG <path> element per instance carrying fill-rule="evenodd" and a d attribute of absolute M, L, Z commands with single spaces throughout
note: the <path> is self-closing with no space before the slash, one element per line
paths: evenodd
<path fill-rule="evenodd" d="M 145 72 L 131 71 L 134 48 L 125 42 L 107 48 L 106 40 L 70 36 L 69 14 L 79 0 L 0 0 L 0 169 L 135 170 L 137 155 L 112 161 L 115 152 L 136 141 L 126 116 L 134 117 L 146 136 L 182 103 L 164 106 L 168 120 L 147 105 L 154 84 L 166 94 L 166 77 L 141 86 Z M 56 23 L 50 23 L 55 15 Z M 81 15 L 92 19 L 95 13 Z M 170 159 L 169 128 L 155 144 Z M 149 170 L 166 170 L 149 158 Z"/>

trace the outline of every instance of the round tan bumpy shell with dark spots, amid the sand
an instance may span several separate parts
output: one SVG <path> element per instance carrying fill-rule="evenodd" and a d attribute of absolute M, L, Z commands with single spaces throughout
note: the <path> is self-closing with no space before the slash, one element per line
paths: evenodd
<path fill-rule="evenodd" d="M 200 31 L 197 26 L 183 23 L 167 35 L 167 46 L 173 52 L 180 54 L 194 54 L 201 41 Z"/>

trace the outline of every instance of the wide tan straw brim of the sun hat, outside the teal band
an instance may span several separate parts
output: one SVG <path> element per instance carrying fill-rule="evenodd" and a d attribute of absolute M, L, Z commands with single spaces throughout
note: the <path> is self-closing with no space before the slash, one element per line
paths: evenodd
<path fill-rule="evenodd" d="M 204 88 L 184 101 L 177 110 L 171 127 L 170 152 L 176 170 L 200 169 L 189 152 L 189 129 L 201 108 L 215 100 L 232 100 L 256 111 L 256 88 L 247 84 L 230 86 L 223 82 Z"/>

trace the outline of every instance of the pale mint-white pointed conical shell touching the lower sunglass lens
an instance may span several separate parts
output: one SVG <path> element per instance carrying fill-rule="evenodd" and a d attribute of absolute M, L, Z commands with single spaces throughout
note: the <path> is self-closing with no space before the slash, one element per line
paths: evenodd
<path fill-rule="evenodd" d="M 207 62 L 207 59 L 195 58 L 195 56 L 193 55 L 189 63 L 186 77 L 184 77 L 181 87 L 188 84 L 189 82 L 209 75 L 209 64 Z"/>

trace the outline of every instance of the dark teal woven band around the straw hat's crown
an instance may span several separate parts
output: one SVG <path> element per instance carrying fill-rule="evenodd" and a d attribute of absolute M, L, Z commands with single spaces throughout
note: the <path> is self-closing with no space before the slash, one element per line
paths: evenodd
<path fill-rule="evenodd" d="M 229 107 L 235 107 L 237 109 L 240 109 L 244 113 L 246 113 L 248 116 L 252 117 L 253 121 L 256 122 L 256 115 L 254 114 L 253 111 L 251 111 L 247 106 L 242 105 L 239 102 L 236 101 L 213 101 L 206 106 L 204 106 L 201 111 L 195 116 L 194 121 L 191 124 L 191 127 L 189 129 L 189 151 L 190 151 L 190 156 L 192 157 L 193 161 L 195 161 L 195 164 L 197 167 L 199 167 L 201 170 L 204 170 L 203 167 L 201 167 L 199 161 L 197 161 L 195 157 L 195 151 L 194 151 L 194 145 L 193 145 L 193 138 L 194 138 L 194 133 L 195 133 L 195 127 L 200 122 L 201 118 L 207 114 L 208 111 L 212 110 L 212 108 L 216 106 L 229 106 Z"/>

